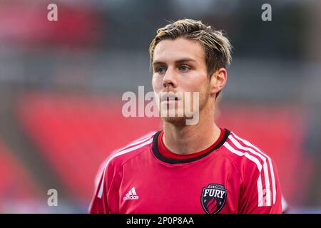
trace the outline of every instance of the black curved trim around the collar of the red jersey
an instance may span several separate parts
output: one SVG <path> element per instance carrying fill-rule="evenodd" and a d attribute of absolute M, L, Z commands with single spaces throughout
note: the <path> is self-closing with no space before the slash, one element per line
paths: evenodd
<path fill-rule="evenodd" d="M 163 162 L 167 162 L 170 164 L 181 164 L 181 163 L 188 163 L 188 162 L 193 162 L 196 160 L 200 160 L 201 158 L 209 155 L 211 152 L 213 152 L 214 150 L 217 150 L 220 146 L 222 146 L 224 144 L 224 142 L 228 139 L 228 135 L 230 135 L 230 131 L 228 129 L 225 128 L 225 134 L 223 136 L 223 139 L 218 142 L 218 145 L 216 145 L 212 150 L 206 152 L 203 155 L 200 155 L 198 157 L 193 157 L 193 158 L 188 158 L 188 159 L 172 159 L 172 158 L 168 158 L 168 157 L 164 157 L 163 155 L 161 155 L 161 153 L 158 150 L 158 135 L 161 133 L 161 131 L 158 131 L 154 137 L 153 137 L 153 145 L 152 145 L 152 150 L 154 155 L 161 161 Z"/>

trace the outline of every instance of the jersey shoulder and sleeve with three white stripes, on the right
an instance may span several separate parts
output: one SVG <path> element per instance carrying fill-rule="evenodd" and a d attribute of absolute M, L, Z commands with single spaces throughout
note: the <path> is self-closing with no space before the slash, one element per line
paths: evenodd
<path fill-rule="evenodd" d="M 258 194 L 258 207 L 265 203 L 263 199 L 266 199 L 266 205 L 274 203 L 279 182 L 275 162 L 271 157 L 257 145 L 233 132 L 228 136 L 224 147 L 223 155 L 228 157 L 240 173 L 243 190 Z"/>

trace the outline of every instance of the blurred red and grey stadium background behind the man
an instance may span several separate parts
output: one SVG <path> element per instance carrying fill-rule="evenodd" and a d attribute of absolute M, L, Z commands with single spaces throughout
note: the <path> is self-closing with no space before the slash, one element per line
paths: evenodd
<path fill-rule="evenodd" d="M 149 43 L 181 18 L 233 43 L 220 126 L 275 160 L 289 213 L 321 212 L 321 1 L 11 0 L 0 1 L 1 213 L 87 212 L 106 156 L 160 128 L 124 118 L 121 95 L 152 90 Z"/>

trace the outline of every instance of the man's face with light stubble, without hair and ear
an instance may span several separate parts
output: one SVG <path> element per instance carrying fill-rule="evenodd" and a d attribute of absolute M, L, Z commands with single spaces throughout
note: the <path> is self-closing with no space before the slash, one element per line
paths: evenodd
<path fill-rule="evenodd" d="M 203 110 L 210 98 L 210 81 L 204 49 L 198 41 L 185 38 L 161 41 L 154 50 L 152 68 L 153 89 L 163 120 L 183 124 L 189 116 L 186 110 L 198 113 Z M 168 113 L 164 116 L 163 110 L 175 116 Z"/>

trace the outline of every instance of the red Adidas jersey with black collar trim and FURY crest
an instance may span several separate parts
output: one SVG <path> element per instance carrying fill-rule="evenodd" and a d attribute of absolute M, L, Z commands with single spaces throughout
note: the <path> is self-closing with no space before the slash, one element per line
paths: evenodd
<path fill-rule="evenodd" d="M 90 213 L 282 213 L 275 163 L 255 145 L 225 129 L 207 150 L 177 157 L 160 134 L 108 157 Z"/>

